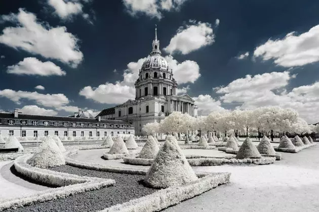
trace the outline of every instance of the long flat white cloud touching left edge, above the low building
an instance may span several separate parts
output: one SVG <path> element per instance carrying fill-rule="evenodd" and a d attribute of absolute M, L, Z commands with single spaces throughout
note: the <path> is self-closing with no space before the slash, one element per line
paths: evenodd
<path fill-rule="evenodd" d="M 11 89 L 0 90 L 0 97 L 7 97 L 10 100 L 20 104 L 21 99 L 33 100 L 39 105 L 45 107 L 61 107 L 69 103 L 69 99 L 62 93 L 42 94 L 38 92 L 14 91 Z"/>

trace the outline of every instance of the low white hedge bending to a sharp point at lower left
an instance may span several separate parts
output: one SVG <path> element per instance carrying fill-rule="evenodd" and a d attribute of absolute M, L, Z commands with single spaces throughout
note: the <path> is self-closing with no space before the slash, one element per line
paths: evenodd
<path fill-rule="evenodd" d="M 0 200 L 0 210 L 22 207 L 35 202 L 50 201 L 115 184 L 115 181 L 111 179 L 82 177 L 32 167 L 27 164 L 27 160 L 29 160 L 31 156 L 31 154 L 27 154 L 20 156 L 15 160 L 14 166 L 17 172 L 36 182 L 62 187 L 50 188 L 20 198 L 2 199 Z"/>

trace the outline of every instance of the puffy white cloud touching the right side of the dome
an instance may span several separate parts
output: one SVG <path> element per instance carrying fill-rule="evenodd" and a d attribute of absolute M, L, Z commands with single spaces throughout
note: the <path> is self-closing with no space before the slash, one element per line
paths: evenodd
<path fill-rule="evenodd" d="M 194 61 L 183 61 L 178 63 L 171 55 L 165 57 L 170 67 L 173 69 L 174 78 L 177 83 L 194 83 L 200 78 L 200 66 Z"/>

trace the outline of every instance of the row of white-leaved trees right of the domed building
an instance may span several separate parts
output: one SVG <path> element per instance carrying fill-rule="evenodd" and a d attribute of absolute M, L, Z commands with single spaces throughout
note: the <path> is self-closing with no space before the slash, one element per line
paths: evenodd
<path fill-rule="evenodd" d="M 154 133 L 196 133 L 214 132 L 221 136 L 227 133 L 237 135 L 276 133 L 306 134 L 318 132 L 319 125 L 308 125 L 293 109 L 280 107 L 261 107 L 255 110 L 234 110 L 232 112 L 212 112 L 208 116 L 192 117 L 187 113 L 173 112 L 161 123 L 147 123 L 143 127 L 146 134 Z"/>

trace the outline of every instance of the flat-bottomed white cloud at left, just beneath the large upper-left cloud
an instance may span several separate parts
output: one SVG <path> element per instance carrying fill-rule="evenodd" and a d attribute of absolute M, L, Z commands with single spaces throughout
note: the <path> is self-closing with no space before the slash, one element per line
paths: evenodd
<path fill-rule="evenodd" d="M 16 65 L 8 66 L 7 73 L 17 75 L 64 76 L 66 73 L 51 61 L 42 62 L 36 58 L 24 58 Z"/>

